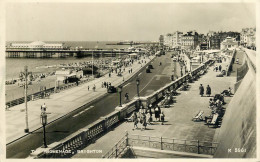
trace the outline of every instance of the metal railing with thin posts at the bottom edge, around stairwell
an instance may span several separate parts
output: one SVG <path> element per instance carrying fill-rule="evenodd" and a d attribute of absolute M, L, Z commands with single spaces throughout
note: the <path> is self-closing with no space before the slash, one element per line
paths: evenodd
<path fill-rule="evenodd" d="M 130 135 L 126 132 L 126 135 L 102 158 L 120 158 L 126 152 L 127 146 L 214 155 L 217 145 L 216 142 Z"/>

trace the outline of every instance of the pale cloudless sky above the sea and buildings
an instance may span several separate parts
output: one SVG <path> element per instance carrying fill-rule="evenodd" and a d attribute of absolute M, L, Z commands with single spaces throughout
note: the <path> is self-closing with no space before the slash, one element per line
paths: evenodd
<path fill-rule="evenodd" d="M 7 3 L 6 41 L 158 41 L 256 26 L 252 3 Z"/>

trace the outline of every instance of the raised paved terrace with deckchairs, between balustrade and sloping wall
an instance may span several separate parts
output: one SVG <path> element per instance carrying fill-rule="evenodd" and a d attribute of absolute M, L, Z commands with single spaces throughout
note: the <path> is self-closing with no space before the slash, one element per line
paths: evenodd
<path fill-rule="evenodd" d="M 227 62 L 217 63 L 217 65 L 225 67 Z M 215 66 L 215 65 L 214 65 Z M 170 108 L 162 108 L 165 113 L 165 125 L 155 122 L 154 125 L 148 125 L 147 130 L 132 130 L 133 123 L 123 123 L 106 135 L 100 137 L 95 143 L 84 148 L 87 150 L 102 150 L 102 153 L 79 153 L 73 158 L 101 158 L 106 154 L 128 131 L 129 134 L 139 134 L 148 136 L 157 136 L 165 138 L 200 140 L 215 142 L 217 136 L 214 137 L 216 130 L 219 128 L 208 128 L 204 122 L 193 122 L 192 117 L 200 110 L 204 111 L 204 115 L 209 115 L 211 110 L 208 108 L 209 97 L 200 97 L 199 85 L 204 87 L 210 85 L 212 95 L 222 92 L 228 87 L 233 87 L 235 77 L 216 77 L 217 72 L 210 67 L 208 73 L 202 76 L 198 81 L 190 84 L 188 91 L 179 91 L 180 95 L 174 100 L 176 103 Z M 229 103 L 231 97 L 226 97 L 225 102 Z M 225 107 L 228 104 L 225 105 Z"/>

